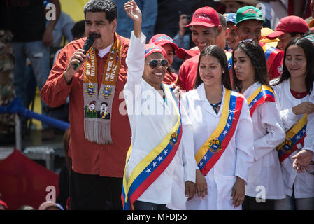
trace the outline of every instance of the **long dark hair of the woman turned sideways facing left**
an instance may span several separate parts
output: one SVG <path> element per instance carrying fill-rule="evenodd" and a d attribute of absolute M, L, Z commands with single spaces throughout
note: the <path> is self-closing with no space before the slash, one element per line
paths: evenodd
<path fill-rule="evenodd" d="M 255 69 L 255 82 L 259 82 L 262 85 L 269 85 L 269 81 L 267 78 L 267 66 L 266 59 L 264 55 L 263 48 L 259 45 L 259 43 L 252 40 L 245 40 L 234 48 L 232 52 L 232 78 L 233 78 L 233 88 L 234 90 L 241 92 L 242 82 L 236 78 L 236 71 L 234 70 L 234 52 L 236 50 L 243 50 L 245 55 L 248 55 L 252 62 L 252 66 Z"/>

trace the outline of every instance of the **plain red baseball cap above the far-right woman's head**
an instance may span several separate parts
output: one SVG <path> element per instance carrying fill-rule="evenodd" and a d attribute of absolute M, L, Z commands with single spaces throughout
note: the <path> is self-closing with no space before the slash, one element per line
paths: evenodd
<path fill-rule="evenodd" d="M 267 38 L 274 39 L 285 33 L 306 33 L 307 31 L 308 24 L 304 19 L 296 15 L 289 15 L 279 20 L 276 30 L 267 35 Z"/>

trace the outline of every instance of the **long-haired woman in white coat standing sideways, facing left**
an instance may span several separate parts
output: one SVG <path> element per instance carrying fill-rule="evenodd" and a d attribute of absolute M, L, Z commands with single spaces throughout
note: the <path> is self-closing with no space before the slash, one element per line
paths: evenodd
<path fill-rule="evenodd" d="M 248 100 L 254 130 L 254 163 L 248 172 L 244 210 L 273 209 L 273 202 L 285 198 L 283 176 L 276 147 L 285 130 L 267 80 L 264 51 L 248 39 L 236 45 L 232 54 L 234 89 Z"/>

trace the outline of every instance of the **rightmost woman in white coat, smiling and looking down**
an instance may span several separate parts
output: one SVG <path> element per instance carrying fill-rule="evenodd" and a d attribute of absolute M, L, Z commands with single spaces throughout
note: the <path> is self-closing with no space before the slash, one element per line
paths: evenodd
<path fill-rule="evenodd" d="M 278 147 L 287 197 L 276 201 L 275 209 L 314 209 L 314 175 L 297 173 L 292 167 L 292 157 L 302 148 L 314 150 L 314 104 L 309 102 L 313 95 L 313 62 L 311 41 L 296 38 L 285 48 L 282 76 L 271 82 L 287 132 L 285 141 Z M 313 169 L 313 165 L 310 166 Z"/>

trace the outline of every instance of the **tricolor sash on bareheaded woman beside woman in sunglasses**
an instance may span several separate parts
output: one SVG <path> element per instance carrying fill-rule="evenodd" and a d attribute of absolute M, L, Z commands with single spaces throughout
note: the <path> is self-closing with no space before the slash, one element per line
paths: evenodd
<path fill-rule="evenodd" d="M 220 123 L 195 155 L 199 170 L 204 176 L 219 160 L 234 136 L 242 110 L 243 95 L 228 89 L 225 90 Z"/>

